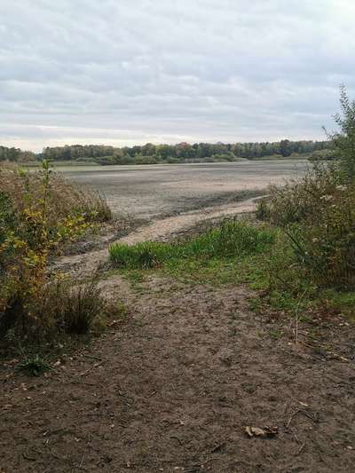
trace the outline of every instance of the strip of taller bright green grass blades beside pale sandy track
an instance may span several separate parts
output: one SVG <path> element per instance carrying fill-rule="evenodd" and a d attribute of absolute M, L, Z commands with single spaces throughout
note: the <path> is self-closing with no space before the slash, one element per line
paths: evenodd
<path fill-rule="evenodd" d="M 109 248 L 110 260 L 122 268 L 152 268 L 170 260 L 187 258 L 228 258 L 262 252 L 273 240 L 267 229 L 255 228 L 236 220 L 185 241 L 148 241 L 134 246 L 115 243 Z"/>

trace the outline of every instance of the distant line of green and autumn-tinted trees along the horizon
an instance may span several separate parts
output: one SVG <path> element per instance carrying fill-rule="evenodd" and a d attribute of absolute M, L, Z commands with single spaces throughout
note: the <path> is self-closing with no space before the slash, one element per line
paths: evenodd
<path fill-rule="evenodd" d="M 329 141 L 290 141 L 282 139 L 273 143 L 179 143 L 178 145 L 104 146 L 70 145 L 45 147 L 35 154 L 19 148 L 0 146 L 0 162 L 28 162 L 50 160 L 53 162 L 93 162 L 99 164 L 157 164 L 177 162 L 236 162 L 241 160 L 311 157 L 313 160 L 332 159 Z"/>

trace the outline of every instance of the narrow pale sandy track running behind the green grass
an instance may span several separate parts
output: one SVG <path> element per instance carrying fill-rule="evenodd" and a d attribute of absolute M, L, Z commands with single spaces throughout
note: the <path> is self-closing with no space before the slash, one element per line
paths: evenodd
<path fill-rule="evenodd" d="M 252 212 L 256 207 L 256 201 L 260 197 L 254 197 L 247 201 L 233 202 L 219 206 L 206 207 L 204 209 L 191 210 L 177 216 L 155 220 L 150 225 L 138 228 L 135 232 L 122 237 L 118 241 L 127 244 L 135 244 L 139 241 L 169 240 L 172 236 L 185 233 L 193 226 L 204 221 L 233 216 L 244 212 Z M 111 241 L 112 243 L 113 241 Z M 107 247 L 83 253 L 75 256 L 63 256 L 52 266 L 53 271 L 70 272 L 72 276 L 81 279 L 91 275 L 101 263 L 107 260 Z"/>

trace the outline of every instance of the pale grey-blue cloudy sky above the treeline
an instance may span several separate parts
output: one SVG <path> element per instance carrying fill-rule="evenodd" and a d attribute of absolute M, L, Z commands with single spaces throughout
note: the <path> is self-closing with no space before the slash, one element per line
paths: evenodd
<path fill-rule="evenodd" d="M 0 0 L 0 145 L 323 138 L 353 0 Z"/>

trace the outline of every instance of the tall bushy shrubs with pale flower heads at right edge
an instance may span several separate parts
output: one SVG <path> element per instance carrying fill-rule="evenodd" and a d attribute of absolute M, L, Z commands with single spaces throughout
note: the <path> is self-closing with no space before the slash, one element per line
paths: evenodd
<path fill-rule="evenodd" d="M 340 131 L 330 136 L 336 163 L 310 169 L 302 179 L 272 186 L 258 213 L 285 228 L 304 275 L 319 286 L 355 287 L 355 102 L 341 89 Z M 265 204 L 263 204 L 265 206 Z"/>

